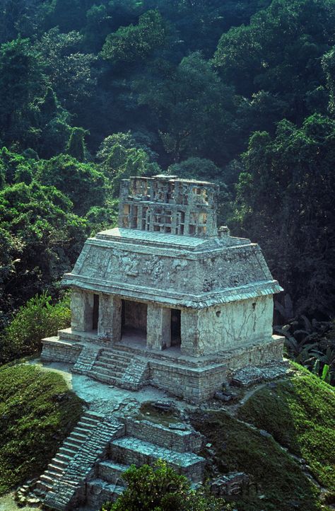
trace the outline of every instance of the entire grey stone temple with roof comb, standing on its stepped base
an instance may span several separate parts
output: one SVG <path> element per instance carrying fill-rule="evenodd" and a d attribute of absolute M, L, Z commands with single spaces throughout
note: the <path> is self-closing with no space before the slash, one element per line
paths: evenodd
<path fill-rule="evenodd" d="M 123 180 L 119 226 L 88 239 L 64 276 L 71 328 L 43 340 L 42 358 L 194 403 L 239 369 L 281 362 L 272 316 L 282 289 L 256 243 L 217 227 L 217 201 L 213 183 Z"/>

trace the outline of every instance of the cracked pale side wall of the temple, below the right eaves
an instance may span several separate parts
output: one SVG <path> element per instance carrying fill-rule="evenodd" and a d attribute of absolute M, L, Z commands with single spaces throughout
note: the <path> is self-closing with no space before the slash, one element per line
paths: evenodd
<path fill-rule="evenodd" d="M 271 338 L 272 297 L 258 297 L 199 311 L 199 352 L 210 355 Z"/>

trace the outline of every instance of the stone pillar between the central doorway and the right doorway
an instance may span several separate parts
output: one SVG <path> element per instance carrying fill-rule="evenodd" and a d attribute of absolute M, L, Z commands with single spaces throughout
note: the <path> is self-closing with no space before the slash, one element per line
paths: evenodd
<path fill-rule="evenodd" d="M 164 350 L 171 345 L 171 309 L 148 304 L 146 346 L 151 350 Z"/>

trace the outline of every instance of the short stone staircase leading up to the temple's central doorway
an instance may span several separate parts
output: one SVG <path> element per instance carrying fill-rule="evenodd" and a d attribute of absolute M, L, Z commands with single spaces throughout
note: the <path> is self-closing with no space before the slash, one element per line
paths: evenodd
<path fill-rule="evenodd" d="M 136 391 L 147 384 L 148 362 L 131 353 L 103 349 L 86 374 L 103 383 Z"/>

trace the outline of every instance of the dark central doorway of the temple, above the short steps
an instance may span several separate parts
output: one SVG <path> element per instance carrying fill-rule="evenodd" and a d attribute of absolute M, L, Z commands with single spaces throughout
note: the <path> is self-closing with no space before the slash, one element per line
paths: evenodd
<path fill-rule="evenodd" d="M 121 338 L 134 337 L 137 340 L 146 340 L 147 304 L 132 302 L 131 300 L 122 300 L 121 315 Z"/>

